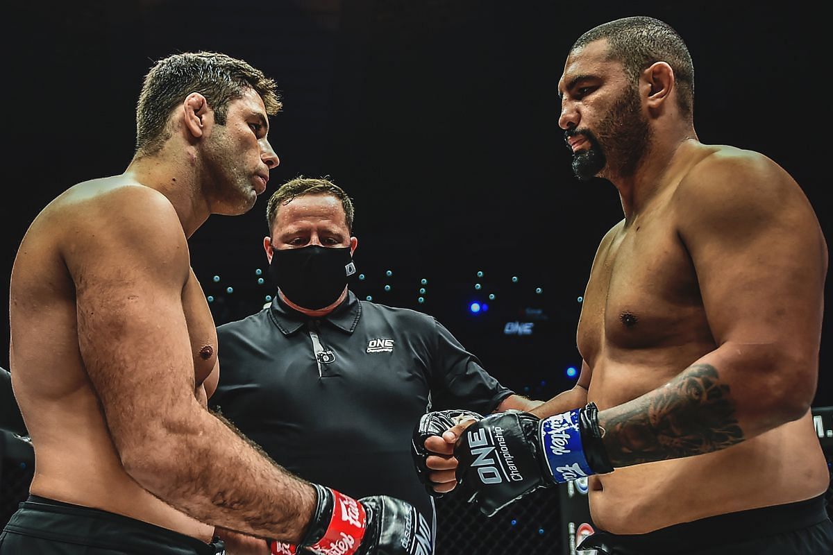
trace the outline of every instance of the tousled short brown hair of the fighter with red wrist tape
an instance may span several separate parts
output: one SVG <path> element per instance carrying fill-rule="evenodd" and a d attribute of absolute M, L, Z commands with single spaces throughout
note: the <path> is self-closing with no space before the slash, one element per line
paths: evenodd
<path fill-rule="evenodd" d="M 150 156 L 171 136 L 167 120 L 188 94 L 199 92 L 214 111 L 214 121 L 226 124 L 228 103 L 247 89 L 257 92 L 267 114 L 282 104 L 274 80 L 247 62 L 219 52 L 182 52 L 157 61 L 144 78 L 136 107 L 136 152 Z"/>

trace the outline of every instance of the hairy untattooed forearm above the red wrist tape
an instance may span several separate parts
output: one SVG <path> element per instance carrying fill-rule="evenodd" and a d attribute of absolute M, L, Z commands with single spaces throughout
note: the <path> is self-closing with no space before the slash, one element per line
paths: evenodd
<path fill-rule="evenodd" d="M 204 523 L 299 543 L 315 507 L 314 488 L 230 424 L 200 409 L 155 440 L 161 456 L 126 465 L 148 491 Z"/>

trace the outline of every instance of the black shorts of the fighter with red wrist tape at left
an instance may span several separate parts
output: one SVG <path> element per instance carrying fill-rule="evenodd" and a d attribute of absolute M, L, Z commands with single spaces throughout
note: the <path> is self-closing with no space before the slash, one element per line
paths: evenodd
<path fill-rule="evenodd" d="M 220 555 L 203 543 L 120 514 L 30 495 L 0 535 L 2 555 Z"/>

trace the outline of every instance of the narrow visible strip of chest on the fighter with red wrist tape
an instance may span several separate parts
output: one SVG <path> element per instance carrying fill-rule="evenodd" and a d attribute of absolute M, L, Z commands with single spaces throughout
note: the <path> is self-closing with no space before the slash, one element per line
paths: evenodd
<path fill-rule="evenodd" d="M 191 341 L 194 377 L 199 386 L 217 365 L 217 328 L 205 294 L 193 272 L 182 290 L 182 309 Z"/>

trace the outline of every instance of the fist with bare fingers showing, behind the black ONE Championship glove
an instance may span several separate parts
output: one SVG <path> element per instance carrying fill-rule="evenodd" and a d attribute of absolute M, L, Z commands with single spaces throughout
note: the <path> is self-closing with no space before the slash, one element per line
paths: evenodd
<path fill-rule="evenodd" d="M 411 440 L 411 454 L 416 468 L 416 475 L 420 482 L 425 485 L 426 491 L 433 497 L 439 498 L 443 492 L 436 488 L 442 488 L 443 473 L 448 474 L 450 487 L 454 485 L 454 468 L 456 459 L 451 456 L 453 444 L 444 444 L 442 434 L 449 429 L 465 421 L 475 422 L 483 418 L 480 414 L 470 410 L 452 409 L 441 410 L 423 414 L 419 423 L 414 428 Z M 427 442 L 435 442 L 435 450 Z M 453 442 L 454 439 L 449 441 Z M 429 461 L 429 457 L 431 460 Z"/>

